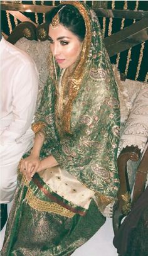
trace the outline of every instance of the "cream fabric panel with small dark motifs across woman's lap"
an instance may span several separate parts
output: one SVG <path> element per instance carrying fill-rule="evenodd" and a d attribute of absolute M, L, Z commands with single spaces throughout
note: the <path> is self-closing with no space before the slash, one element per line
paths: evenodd
<path fill-rule="evenodd" d="M 52 191 L 62 198 L 88 209 L 95 192 L 85 187 L 73 175 L 61 169 L 59 165 L 43 170 L 39 172 L 39 175 Z"/>

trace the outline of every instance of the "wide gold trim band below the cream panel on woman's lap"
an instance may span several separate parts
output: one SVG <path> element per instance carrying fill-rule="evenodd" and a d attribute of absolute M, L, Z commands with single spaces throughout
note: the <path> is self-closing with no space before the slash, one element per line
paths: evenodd
<path fill-rule="evenodd" d="M 50 213 L 60 214 L 61 216 L 65 216 L 67 218 L 73 218 L 75 215 L 75 213 L 72 211 L 60 206 L 60 204 L 41 201 L 39 198 L 36 198 L 36 196 L 33 195 L 33 191 L 31 191 L 30 188 L 28 188 L 26 193 L 26 200 L 31 208 L 38 211 L 48 211 Z"/>

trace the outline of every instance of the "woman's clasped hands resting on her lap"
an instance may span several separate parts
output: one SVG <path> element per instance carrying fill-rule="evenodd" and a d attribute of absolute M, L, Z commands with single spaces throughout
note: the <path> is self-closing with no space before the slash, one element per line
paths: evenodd
<path fill-rule="evenodd" d="M 26 159 L 22 159 L 19 165 L 20 171 L 26 176 L 28 181 L 31 181 L 32 172 L 35 173 L 40 165 L 40 157 L 36 155 L 29 155 Z"/>

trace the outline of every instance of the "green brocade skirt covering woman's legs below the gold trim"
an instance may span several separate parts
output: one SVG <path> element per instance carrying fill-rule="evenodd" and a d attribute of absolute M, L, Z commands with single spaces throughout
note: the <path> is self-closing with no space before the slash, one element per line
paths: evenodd
<path fill-rule="evenodd" d="M 28 188 L 18 184 L 1 256 L 64 256 L 83 245 L 105 223 L 92 200 L 86 216 L 37 211 L 29 207 Z"/>

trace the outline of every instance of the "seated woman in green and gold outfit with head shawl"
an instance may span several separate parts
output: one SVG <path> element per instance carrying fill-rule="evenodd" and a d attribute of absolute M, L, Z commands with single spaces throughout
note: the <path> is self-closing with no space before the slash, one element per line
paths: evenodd
<path fill-rule="evenodd" d="M 21 161 L 2 255 L 71 255 L 117 195 L 119 101 L 98 19 L 78 1 L 46 14 L 50 76 Z"/>

